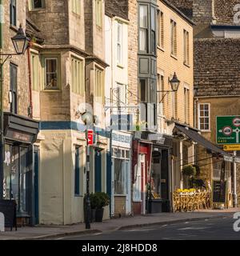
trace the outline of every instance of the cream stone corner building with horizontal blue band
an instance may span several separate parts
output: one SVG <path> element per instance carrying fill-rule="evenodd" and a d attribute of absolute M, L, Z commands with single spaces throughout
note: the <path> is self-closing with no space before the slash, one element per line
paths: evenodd
<path fill-rule="evenodd" d="M 39 223 L 84 222 L 86 127 L 81 115 L 98 115 L 98 130 L 104 127 L 104 8 L 100 0 L 26 1 L 35 30 L 30 50 L 33 116 L 41 120 Z M 38 41 L 39 31 L 44 42 Z M 96 135 L 90 152 L 93 192 L 106 191 L 106 146 L 106 137 Z"/>

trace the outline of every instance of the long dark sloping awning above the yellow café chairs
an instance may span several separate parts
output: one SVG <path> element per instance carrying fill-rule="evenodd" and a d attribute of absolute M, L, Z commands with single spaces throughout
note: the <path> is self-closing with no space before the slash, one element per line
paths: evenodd
<path fill-rule="evenodd" d="M 182 131 L 183 134 L 186 134 L 186 136 L 191 138 L 194 142 L 198 142 L 198 144 L 204 146 L 207 150 L 217 154 L 228 155 L 225 151 L 214 145 L 214 143 L 208 141 L 201 134 L 198 134 L 197 130 L 192 130 L 190 128 L 187 129 L 186 127 L 180 126 L 178 124 L 175 124 L 175 127 Z"/>

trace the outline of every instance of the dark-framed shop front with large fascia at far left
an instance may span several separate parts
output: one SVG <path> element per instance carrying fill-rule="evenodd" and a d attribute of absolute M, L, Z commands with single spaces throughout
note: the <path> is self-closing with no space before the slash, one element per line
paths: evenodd
<path fill-rule="evenodd" d="M 34 182 L 34 142 L 39 124 L 16 114 L 4 114 L 3 199 L 15 200 L 18 220 L 34 224 L 38 213 L 34 209 L 36 194 Z M 38 200 L 37 200 L 38 201 Z"/>

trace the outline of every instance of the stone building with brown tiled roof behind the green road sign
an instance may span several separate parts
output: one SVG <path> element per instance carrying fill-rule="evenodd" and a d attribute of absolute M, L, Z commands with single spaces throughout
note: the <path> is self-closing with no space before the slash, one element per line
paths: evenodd
<path fill-rule="evenodd" d="M 194 27 L 194 125 L 211 142 L 220 143 L 216 138 L 217 116 L 238 116 L 238 50 L 239 1 L 178 1 L 171 0 L 178 8 L 188 5 L 192 9 Z M 187 13 L 186 13 L 187 14 Z M 230 124 L 231 126 L 231 124 Z M 210 153 L 210 152 L 208 152 Z M 234 154 L 234 152 L 228 152 Z M 218 182 L 223 168 L 222 154 L 202 154 L 201 177 Z M 236 152 L 238 155 L 238 151 Z M 231 159 L 230 159 L 231 160 Z M 236 171 L 237 168 L 237 171 Z M 237 174 L 236 174 L 237 172 Z M 225 162 L 226 198 L 225 206 L 236 206 L 239 202 L 239 170 L 233 162 Z M 237 176 L 237 177 L 236 177 Z M 236 194 L 237 187 L 237 194 Z"/>

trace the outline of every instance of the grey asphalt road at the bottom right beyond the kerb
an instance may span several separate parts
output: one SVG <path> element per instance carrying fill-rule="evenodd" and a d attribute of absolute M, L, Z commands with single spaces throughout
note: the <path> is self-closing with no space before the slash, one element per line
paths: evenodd
<path fill-rule="evenodd" d="M 87 236 L 67 236 L 58 240 L 240 240 L 240 231 L 234 231 L 234 221 L 229 217 L 206 219 Z"/>

